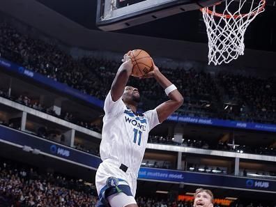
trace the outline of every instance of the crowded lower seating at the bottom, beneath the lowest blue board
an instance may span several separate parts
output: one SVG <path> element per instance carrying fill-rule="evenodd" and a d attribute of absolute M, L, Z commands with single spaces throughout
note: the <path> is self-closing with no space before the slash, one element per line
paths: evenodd
<path fill-rule="evenodd" d="M 94 183 L 0 158 L 0 206 L 94 207 L 97 200 Z M 192 200 L 175 201 L 143 195 L 136 200 L 139 207 L 192 207 Z M 231 206 L 251 203 L 252 201 L 245 204 L 236 201 Z M 252 207 L 261 206 L 259 202 L 252 204 Z"/>

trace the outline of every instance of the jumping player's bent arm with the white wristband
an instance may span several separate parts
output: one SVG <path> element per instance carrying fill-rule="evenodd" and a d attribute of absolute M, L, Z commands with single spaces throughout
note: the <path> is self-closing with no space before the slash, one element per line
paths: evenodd
<path fill-rule="evenodd" d="M 148 72 L 144 75 L 147 77 L 154 77 L 156 81 L 162 86 L 165 93 L 168 95 L 170 100 L 163 102 L 161 105 L 156 107 L 158 113 L 158 119 L 160 123 L 166 120 L 172 113 L 176 111 L 181 105 L 183 105 L 183 96 L 177 90 L 176 86 L 172 84 L 167 77 L 165 77 L 157 66 L 153 63 L 153 71 Z"/>

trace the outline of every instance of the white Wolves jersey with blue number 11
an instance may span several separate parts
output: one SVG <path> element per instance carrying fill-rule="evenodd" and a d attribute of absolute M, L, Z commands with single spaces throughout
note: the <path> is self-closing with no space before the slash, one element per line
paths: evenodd
<path fill-rule="evenodd" d="M 136 116 L 121 98 L 112 100 L 109 91 L 105 99 L 100 158 L 125 164 L 138 174 L 148 141 L 148 132 L 160 122 L 156 109 Z"/>

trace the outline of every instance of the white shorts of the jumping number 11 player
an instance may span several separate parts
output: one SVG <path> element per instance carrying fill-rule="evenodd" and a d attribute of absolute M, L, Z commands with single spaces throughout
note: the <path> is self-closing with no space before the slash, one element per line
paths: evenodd
<path fill-rule="evenodd" d="M 136 193 L 136 187 L 137 187 L 137 176 L 133 174 L 130 171 L 122 171 L 119 169 L 120 164 L 111 161 L 111 160 L 104 160 L 98 167 L 98 170 L 95 175 L 95 185 L 97 188 L 98 196 L 100 201 L 102 199 L 107 199 L 105 197 L 105 190 L 107 190 L 107 179 L 110 177 L 118 178 L 118 188 L 127 196 L 132 197 L 130 200 L 129 197 L 125 197 L 123 200 L 123 203 L 121 205 L 128 205 L 129 202 L 135 201 L 135 193 Z M 122 197 L 120 195 L 121 193 L 118 193 L 117 195 Z M 112 197 L 112 200 L 117 200 L 117 196 L 114 194 L 114 197 Z M 108 199 L 107 199 L 108 201 Z M 131 203 L 131 204 L 136 204 Z M 125 206 L 126 206 L 125 205 Z M 118 207 L 118 206 L 116 206 Z"/>

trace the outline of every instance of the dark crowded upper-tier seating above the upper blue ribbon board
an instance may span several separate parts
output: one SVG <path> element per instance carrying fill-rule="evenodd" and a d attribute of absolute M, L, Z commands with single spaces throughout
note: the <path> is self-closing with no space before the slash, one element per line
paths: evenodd
<path fill-rule="evenodd" d="M 119 60 L 107 61 L 89 56 L 74 59 L 54 43 L 31 38 L 5 23 L 0 25 L 0 29 L 1 57 L 68 84 L 81 93 L 105 99 L 120 66 Z M 185 97 L 178 114 L 275 123 L 275 77 L 265 79 L 230 73 L 211 75 L 199 68 L 160 70 L 178 86 Z M 164 91 L 153 79 L 139 81 L 133 78 L 130 84 L 139 88 L 146 109 L 155 107 L 166 98 Z M 259 94 L 262 94 L 261 97 Z M 230 102 L 233 107 L 225 107 L 226 102 Z"/>

